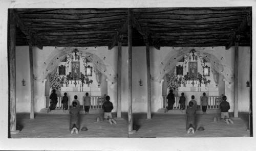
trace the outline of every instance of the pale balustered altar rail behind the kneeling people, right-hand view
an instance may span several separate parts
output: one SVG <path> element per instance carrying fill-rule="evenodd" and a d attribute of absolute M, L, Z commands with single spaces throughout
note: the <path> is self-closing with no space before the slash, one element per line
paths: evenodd
<path fill-rule="evenodd" d="M 175 96 L 175 104 L 174 104 L 173 109 L 180 109 L 179 99 L 180 99 L 180 96 Z M 190 100 L 191 99 L 188 100 L 187 97 L 186 97 L 185 109 L 187 109 L 188 103 L 189 103 Z M 222 96 L 208 96 L 207 109 L 209 109 L 209 110 L 210 109 L 219 109 L 221 102 L 222 102 Z M 200 97 L 200 104 L 198 104 L 198 106 L 200 106 L 200 109 L 202 109 L 201 97 Z M 167 96 L 163 96 L 163 108 L 166 108 L 166 107 L 167 107 Z"/>

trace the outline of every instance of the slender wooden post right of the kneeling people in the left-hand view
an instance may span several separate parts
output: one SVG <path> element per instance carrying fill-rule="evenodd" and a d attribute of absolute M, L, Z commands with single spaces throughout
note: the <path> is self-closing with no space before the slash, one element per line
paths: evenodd
<path fill-rule="evenodd" d="M 121 118 L 122 39 L 123 39 L 123 35 L 119 35 L 118 49 L 117 49 L 117 118 Z"/>

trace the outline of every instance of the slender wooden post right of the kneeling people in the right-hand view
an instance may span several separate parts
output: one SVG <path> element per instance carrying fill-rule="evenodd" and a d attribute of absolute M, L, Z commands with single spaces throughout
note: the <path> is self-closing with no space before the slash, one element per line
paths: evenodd
<path fill-rule="evenodd" d="M 238 117 L 238 40 L 234 47 L 234 117 Z"/>

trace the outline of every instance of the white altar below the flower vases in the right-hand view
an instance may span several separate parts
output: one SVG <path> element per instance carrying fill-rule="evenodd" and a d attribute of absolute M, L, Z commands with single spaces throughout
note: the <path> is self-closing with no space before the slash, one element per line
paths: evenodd
<path fill-rule="evenodd" d="M 181 93 L 184 93 L 184 96 L 187 97 L 187 104 L 191 100 L 191 96 L 195 96 L 197 104 L 201 104 L 200 97 L 203 96 L 203 93 L 206 93 L 206 96 L 219 96 L 219 89 L 214 84 L 199 84 L 199 81 L 194 81 L 194 85 L 191 84 L 193 81 L 187 81 L 187 84 L 181 84 L 178 88 L 178 95 L 181 96 Z"/>

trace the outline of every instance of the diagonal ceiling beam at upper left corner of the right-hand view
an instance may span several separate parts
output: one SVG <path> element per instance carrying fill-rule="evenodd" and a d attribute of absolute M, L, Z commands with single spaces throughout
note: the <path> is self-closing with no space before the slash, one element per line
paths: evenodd
<path fill-rule="evenodd" d="M 140 26 L 140 23 L 135 18 L 134 14 L 131 13 L 132 23 L 135 29 L 143 36 L 144 42 L 148 42 L 148 45 L 153 45 L 156 49 L 160 49 L 160 46 L 154 42 L 154 39 L 151 38 L 150 34 L 146 33 L 146 31 Z"/>

